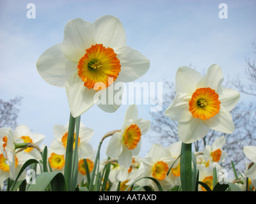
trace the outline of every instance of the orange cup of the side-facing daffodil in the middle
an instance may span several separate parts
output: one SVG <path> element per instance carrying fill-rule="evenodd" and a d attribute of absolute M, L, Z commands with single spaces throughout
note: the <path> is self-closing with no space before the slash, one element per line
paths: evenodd
<path fill-rule="evenodd" d="M 132 124 L 125 129 L 123 139 L 125 146 L 131 150 L 137 147 L 140 142 L 141 132 L 140 128 L 136 124 Z"/>

